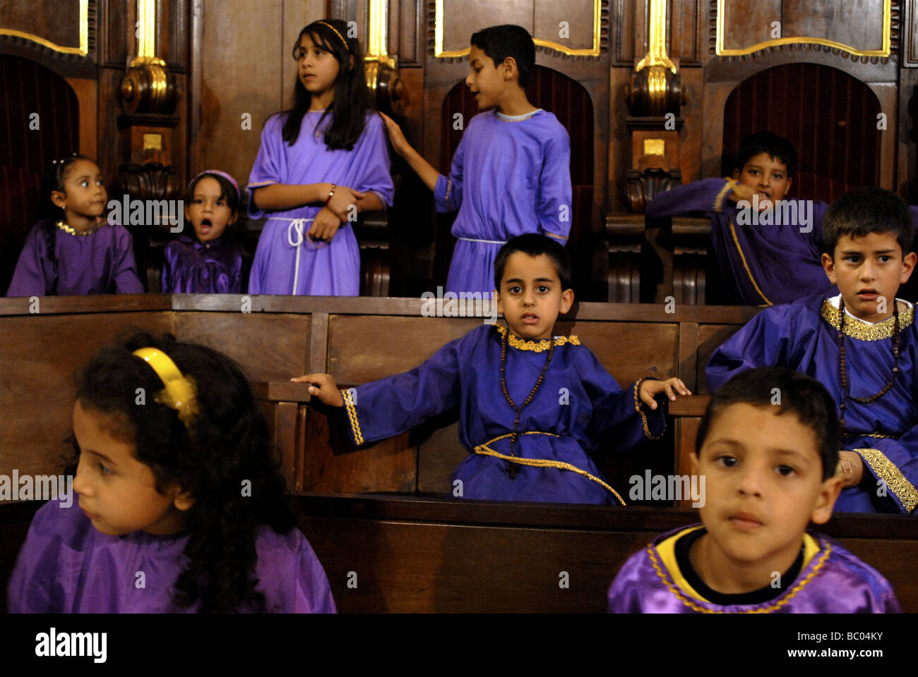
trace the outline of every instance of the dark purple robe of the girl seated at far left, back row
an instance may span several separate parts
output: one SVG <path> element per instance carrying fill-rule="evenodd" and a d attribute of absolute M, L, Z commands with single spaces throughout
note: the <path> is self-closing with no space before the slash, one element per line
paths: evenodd
<path fill-rule="evenodd" d="M 49 222 L 28 231 L 7 296 L 143 294 L 127 228 L 105 224 L 92 235 L 70 235 Z"/>

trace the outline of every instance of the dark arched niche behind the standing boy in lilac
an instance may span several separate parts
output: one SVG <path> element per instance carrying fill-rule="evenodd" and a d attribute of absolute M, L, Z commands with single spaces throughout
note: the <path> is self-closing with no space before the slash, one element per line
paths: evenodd
<path fill-rule="evenodd" d="M 571 185 L 573 189 L 570 242 L 588 239 L 593 209 L 593 102 L 584 86 L 563 72 L 536 65 L 526 95 L 532 105 L 554 113 L 567 129 L 571 139 Z M 441 172 L 448 174 L 453 154 L 462 139 L 463 130 L 453 129 L 456 113 L 468 121 L 478 113 L 475 97 L 470 94 L 465 81 L 460 81 L 446 94 L 442 103 Z M 448 233 L 447 233 L 448 235 Z M 448 240 L 447 240 L 448 241 Z M 444 245 L 438 239 L 438 246 Z M 445 279 L 445 274 L 443 275 Z"/>

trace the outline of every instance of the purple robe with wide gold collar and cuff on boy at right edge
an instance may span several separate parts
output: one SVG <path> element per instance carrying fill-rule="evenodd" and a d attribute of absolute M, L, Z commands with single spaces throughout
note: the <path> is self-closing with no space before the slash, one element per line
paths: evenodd
<path fill-rule="evenodd" d="M 918 505 L 918 330 L 914 308 L 901 311 L 899 375 L 890 391 L 870 404 L 845 399 L 843 449 L 864 462 L 860 484 L 846 487 L 836 512 L 914 513 Z M 893 318 L 869 324 L 845 317 L 849 395 L 869 397 L 892 375 Z M 815 294 L 767 308 L 714 351 L 705 374 L 711 392 L 753 367 L 787 367 L 809 374 L 840 402 L 837 300 Z M 839 410 L 840 412 L 841 410 Z"/>

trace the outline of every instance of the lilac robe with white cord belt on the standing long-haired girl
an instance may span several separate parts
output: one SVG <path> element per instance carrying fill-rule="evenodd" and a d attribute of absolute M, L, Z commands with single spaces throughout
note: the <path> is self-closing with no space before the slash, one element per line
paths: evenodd
<path fill-rule="evenodd" d="M 322 128 L 328 128 L 326 117 Z M 371 114 L 353 150 L 329 150 L 316 136 L 322 113 L 303 116 L 299 138 L 293 146 L 281 136 L 285 114 L 264 125 L 262 146 L 249 176 L 249 216 L 267 216 L 252 262 L 249 294 L 360 294 L 360 249 L 353 228 L 342 222 L 330 243 L 307 237 L 321 205 L 305 205 L 266 213 L 255 205 L 256 188 L 271 183 L 335 183 L 356 191 L 373 191 L 384 206 L 392 205 L 395 189 L 389 173 L 386 130 L 382 118 Z M 306 219 L 305 221 L 301 219 Z"/>

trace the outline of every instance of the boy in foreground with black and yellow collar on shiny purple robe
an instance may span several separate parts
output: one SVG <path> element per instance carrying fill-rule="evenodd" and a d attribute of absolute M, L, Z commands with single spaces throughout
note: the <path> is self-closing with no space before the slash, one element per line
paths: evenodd
<path fill-rule="evenodd" d="M 734 377 L 711 397 L 691 457 L 706 479 L 701 524 L 629 558 L 610 611 L 898 613 L 886 579 L 806 531 L 832 516 L 838 440 L 834 400 L 815 379 L 771 367 Z"/>

